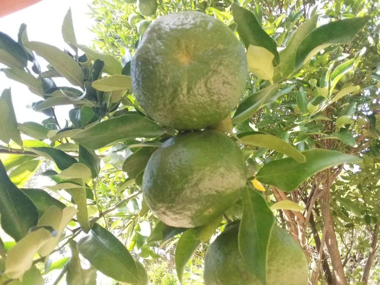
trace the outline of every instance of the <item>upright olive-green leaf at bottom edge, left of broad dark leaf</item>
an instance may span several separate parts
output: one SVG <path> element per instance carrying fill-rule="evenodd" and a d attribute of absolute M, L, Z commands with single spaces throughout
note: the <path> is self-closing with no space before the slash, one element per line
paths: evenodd
<path fill-rule="evenodd" d="M 83 269 L 79 253 L 76 249 L 76 241 L 70 242 L 71 258 L 66 274 L 67 285 L 96 285 L 96 269 L 90 267 Z"/>

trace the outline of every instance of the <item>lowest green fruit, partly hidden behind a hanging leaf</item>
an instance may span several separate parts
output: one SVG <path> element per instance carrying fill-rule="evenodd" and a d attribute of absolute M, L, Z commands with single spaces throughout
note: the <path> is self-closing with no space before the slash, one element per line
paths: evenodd
<path fill-rule="evenodd" d="M 261 285 L 239 253 L 239 223 L 229 225 L 206 252 L 205 285 Z M 267 285 L 307 285 L 308 264 L 299 244 L 274 226 L 269 240 Z"/>

